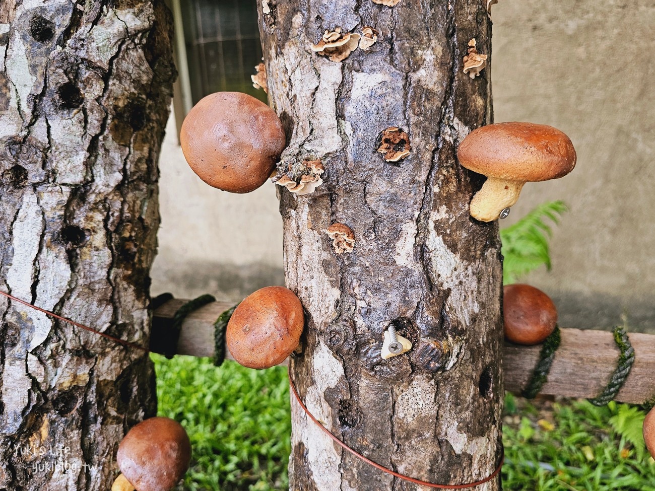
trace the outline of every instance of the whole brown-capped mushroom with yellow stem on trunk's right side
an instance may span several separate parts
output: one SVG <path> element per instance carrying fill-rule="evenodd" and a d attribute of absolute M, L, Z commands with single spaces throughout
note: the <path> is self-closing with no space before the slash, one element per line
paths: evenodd
<path fill-rule="evenodd" d="M 472 217 L 498 218 L 514 205 L 527 181 L 547 181 L 573 170 L 576 153 L 561 131 L 529 122 L 489 124 L 470 132 L 457 149 L 463 167 L 487 176 L 471 201 Z"/>

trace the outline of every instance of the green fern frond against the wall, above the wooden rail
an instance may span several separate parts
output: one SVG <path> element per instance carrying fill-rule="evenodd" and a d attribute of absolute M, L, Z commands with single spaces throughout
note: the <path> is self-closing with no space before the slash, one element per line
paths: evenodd
<path fill-rule="evenodd" d="M 548 240 L 553 233 L 552 225 L 569 208 L 563 201 L 542 203 L 514 225 L 500 230 L 502 255 L 504 256 L 502 280 L 515 283 L 522 276 L 544 265 L 550 270 Z"/>

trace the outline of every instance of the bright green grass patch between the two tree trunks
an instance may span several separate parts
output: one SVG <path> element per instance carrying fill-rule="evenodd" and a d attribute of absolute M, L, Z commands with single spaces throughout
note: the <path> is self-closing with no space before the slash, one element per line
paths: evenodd
<path fill-rule="evenodd" d="M 254 371 L 226 361 L 152 355 L 159 415 L 191 439 L 191 469 L 178 490 L 288 488 L 289 382 L 284 367 Z"/>

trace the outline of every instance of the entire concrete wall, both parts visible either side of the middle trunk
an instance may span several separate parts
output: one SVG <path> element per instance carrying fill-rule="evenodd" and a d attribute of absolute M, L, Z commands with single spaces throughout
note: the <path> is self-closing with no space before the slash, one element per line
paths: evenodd
<path fill-rule="evenodd" d="M 634 330 L 655 332 L 655 2 L 500 0 L 492 13 L 495 120 L 551 124 L 578 152 L 571 175 L 528 183 L 503 223 L 547 200 L 569 205 L 552 271 L 525 281 L 553 297 L 561 325 L 610 327 L 625 313 Z M 185 164 L 174 124 L 168 134 L 153 294 L 238 300 L 282 284 L 274 186 L 212 189 Z"/>

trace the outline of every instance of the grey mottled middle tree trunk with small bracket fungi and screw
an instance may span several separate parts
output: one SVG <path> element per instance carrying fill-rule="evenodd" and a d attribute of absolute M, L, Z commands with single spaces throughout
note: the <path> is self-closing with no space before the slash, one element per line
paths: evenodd
<path fill-rule="evenodd" d="M 495 223 L 469 216 L 482 178 L 456 149 L 492 118 L 491 60 L 476 79 L 462 73 L 472 38 L 491 53 L 485 3 L 260 3 L 269 98 L 291 137 L 283 162 L 325 167 L 313 194 L 280 192 L 286 281 L 307 310 L 291 376 L 314 416 L 379 464 L 441 484 L 482 479 L 501 445 L 500 242 Z M 326 29 L 365 26 L 377 43 L 343 61 L 310 49 Z M 376 151 L 388 127 L 411 143 L 395 164 Z M 333 251 L 335 222 L 354 231 L 351 253 Z M 392 323 L 413 349 L 383 360 Z M 291 489 L 424 489 L 342 450 L 295 402 L 292 422 Z M 476 489 L 498 488 L 500 477 Z"/>

